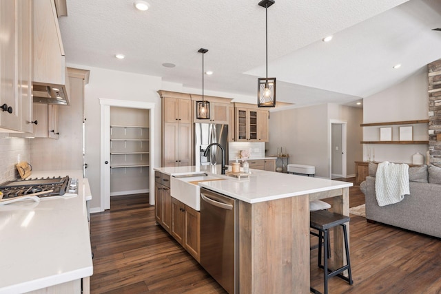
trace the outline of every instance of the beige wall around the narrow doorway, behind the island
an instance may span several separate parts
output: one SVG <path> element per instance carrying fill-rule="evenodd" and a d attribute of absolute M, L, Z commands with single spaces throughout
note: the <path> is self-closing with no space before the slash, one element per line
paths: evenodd
<path fill-rule="evenodd" d="M 271 111 L 267 154 L 276 154 L 283 147 L 290 163 L 314 165 L 316 176 L 330 178 L 330 120 L 347 121 L 347 175 L 355 175 L 353 162 L 362 158 L 360 108 L 321 104 Z"/>

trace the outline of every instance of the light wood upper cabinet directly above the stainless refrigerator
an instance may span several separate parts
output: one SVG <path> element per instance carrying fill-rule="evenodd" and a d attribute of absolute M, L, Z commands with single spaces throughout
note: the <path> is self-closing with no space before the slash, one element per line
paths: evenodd
<path fill-rule="evenodd" d="M 209 101 L 209 119 L 196 118 L 196 101 L 202 101 L 201 95 L 190 94 L 193 101 L 193 122 L 194 123 L 220 123 L 228 125 L 229 123 L 229 105 L 232 99 L 220 98 L 214 96 L 204 96 L 204 101 Z"/>

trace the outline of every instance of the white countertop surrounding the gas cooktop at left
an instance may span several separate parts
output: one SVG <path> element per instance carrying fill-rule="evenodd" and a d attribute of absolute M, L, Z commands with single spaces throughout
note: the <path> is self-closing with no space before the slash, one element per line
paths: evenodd
<path fill-rule="evenodd" d="M 79 195 L 0 206 L 0 293 L 25 293 L 93 273 L 82 171 L 32 171 L 79 179 Z"/>

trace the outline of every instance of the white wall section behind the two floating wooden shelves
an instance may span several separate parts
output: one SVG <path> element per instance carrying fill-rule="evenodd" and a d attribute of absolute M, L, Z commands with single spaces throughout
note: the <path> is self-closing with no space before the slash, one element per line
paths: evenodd
<path fill-rule="evenodd" d="M 429 118 L 427 94 L 427 67 L 405 81 L 380 93 L 363 99 L 363 122 L 381 123 L 401 120 Z M 392 140 L 398 140 L 400 125 L 393 125 Z M 364 127 L 363 140 L 379 140 L 380 127 Z M 413 140 L 428 140 L 427 125 L 413 125 Z M 364 160 L 368 160 L 367 149 L 375 152 L 376 161 L 412 162 L 412 155 L 420 152 L 425 156 L 427 145 L 365 145 Z M 372 159 L 372 156 L 371 156 Z"/>

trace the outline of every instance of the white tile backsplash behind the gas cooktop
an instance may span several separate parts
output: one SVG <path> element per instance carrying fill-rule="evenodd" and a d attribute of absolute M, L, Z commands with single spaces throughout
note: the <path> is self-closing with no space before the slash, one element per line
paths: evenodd
<path fill-rule="evenodd" d="M 0 138 L 0 183 L 19 177 L 17 162 L 30 158 L 30 139 Z"/>

